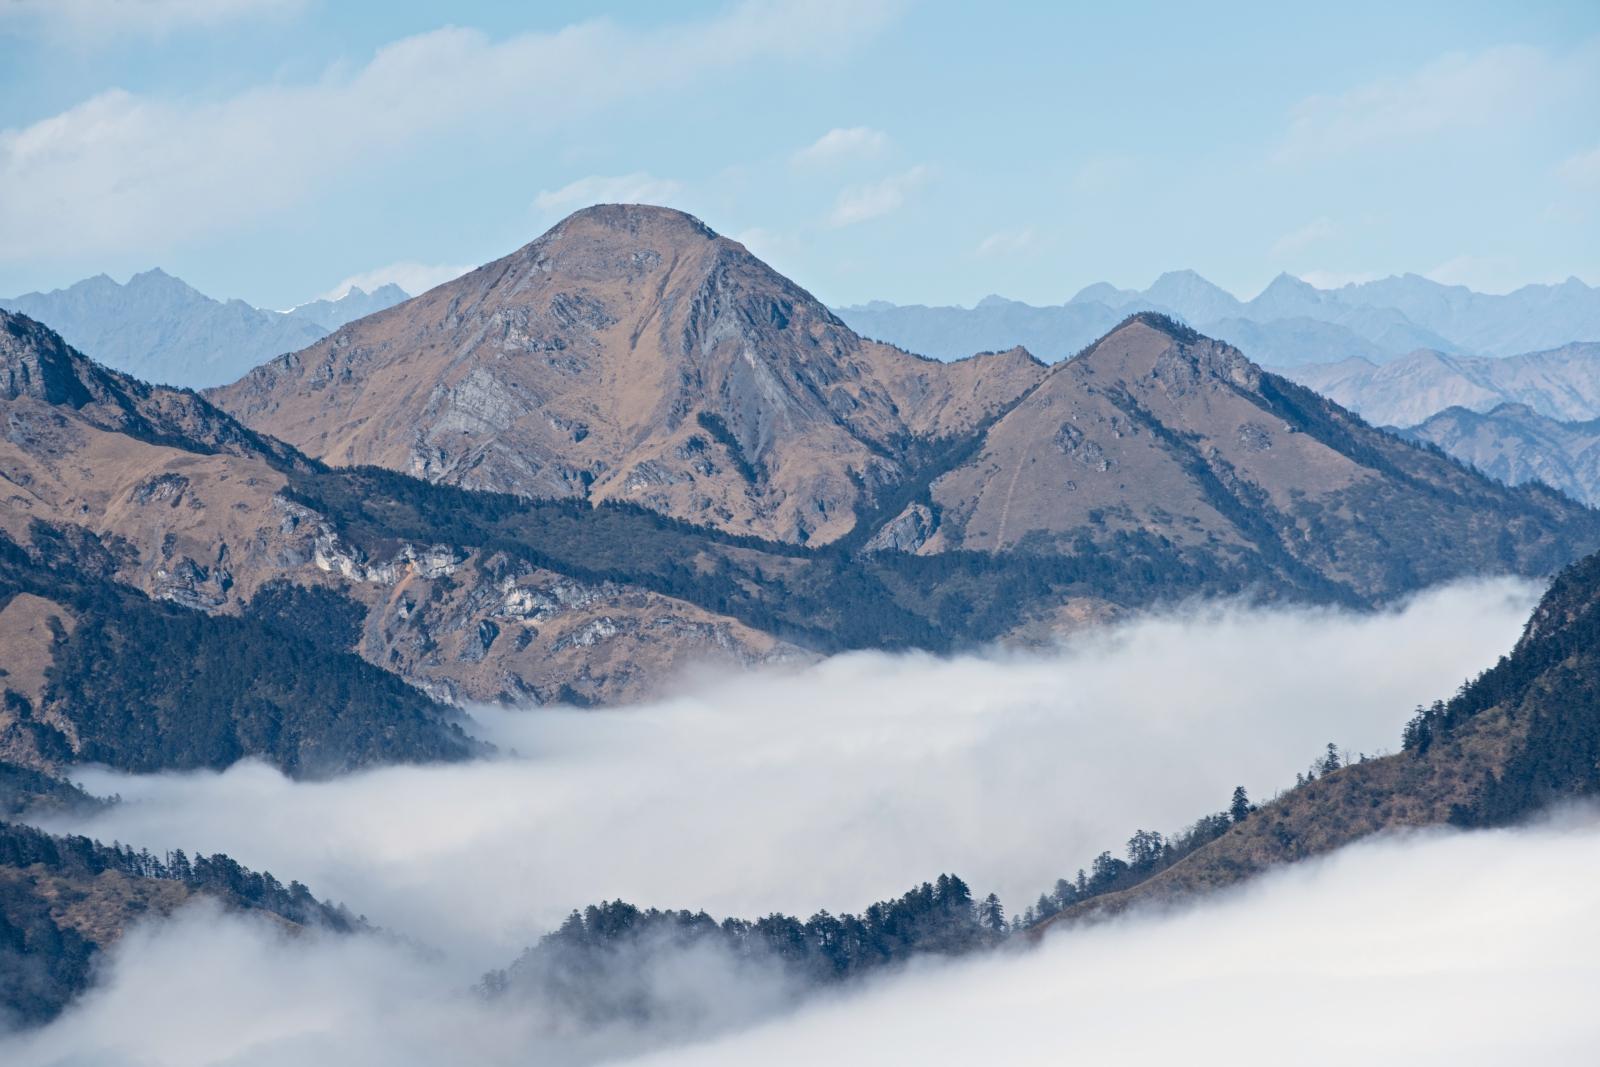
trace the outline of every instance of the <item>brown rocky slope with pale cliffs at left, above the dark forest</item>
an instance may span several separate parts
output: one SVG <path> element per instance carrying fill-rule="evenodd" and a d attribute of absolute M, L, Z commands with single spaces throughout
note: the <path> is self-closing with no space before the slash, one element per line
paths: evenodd
<path fill-rule="evenodd" d="M 203 613 L 270 608 L 326 654 L 354 649 L 440 699 L 616 701 L 688 664 L 792 651 L 715 608 L 440 544 L 438 531 L 355 549 L 290 499 L 312 461 L 3 312 L 0 418 L 0 533 L 24 552 L 42 531 L 51 545 L 96 544 L 96 581 Z M 53 646 L 30 605 L 18 598 L 0 625 L 10 654 L 35 649 L 32 694 L 50 662 L 38 649 Z"/>

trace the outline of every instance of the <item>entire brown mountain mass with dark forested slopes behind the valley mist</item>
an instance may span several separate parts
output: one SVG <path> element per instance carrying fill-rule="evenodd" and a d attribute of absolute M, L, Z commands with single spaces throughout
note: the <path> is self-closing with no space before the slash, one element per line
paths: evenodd
<path fill-rule="evenodd" d="M 1600 545 L 1594 512 L 1166 317 L 1056 366 L 928 360 L 662 208 L 581 211 L 208 398 L 26 317 L 0 336 L 0 726 L 46 768 L 448 758 L 466 701 L 1040 640 L 1195 593 L 1373 605 Z M 246 632 L 259 662 L 160 673 L 162 641 Z M 107 656 L 126 665 L 91 669 Z M 274 657 L 334 680 L 312 720 L 246 701 Z M 155 693 L 165 718 L 133 737 Z M 378 697 L 395 718 L 355 729 Z"/>

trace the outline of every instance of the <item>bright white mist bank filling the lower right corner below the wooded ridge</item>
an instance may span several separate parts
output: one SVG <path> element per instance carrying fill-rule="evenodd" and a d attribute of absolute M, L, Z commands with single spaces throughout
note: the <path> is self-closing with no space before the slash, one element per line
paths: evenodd
<path fill-rule="evenodd" d="M 637 1061 L 1594 1064 L 1600 822 L 1355 845 Z"/>

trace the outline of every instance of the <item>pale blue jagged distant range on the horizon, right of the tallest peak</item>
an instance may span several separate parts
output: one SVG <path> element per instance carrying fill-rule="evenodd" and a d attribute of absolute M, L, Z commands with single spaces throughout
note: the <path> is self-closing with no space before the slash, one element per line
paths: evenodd
<path fill-rule="evenodd" d="M 1384 363 L 1418 349 L 1512 355 L 1600 341 L 1600 290 L 1578 278 L 1494 296 L 1414 274 L 1338 290 L 1283 274 L 1240 301 L 1194 270 L 1174 270 L 1144 291 L 1101 282 L 1046 307 L 989 296 L 970 309 L 874 301 L 835 314 L 862 336 L 934 358 L 1022 346 L 1054 362 L 1141 310 L 1173 315 L 1269 366 Z"/>

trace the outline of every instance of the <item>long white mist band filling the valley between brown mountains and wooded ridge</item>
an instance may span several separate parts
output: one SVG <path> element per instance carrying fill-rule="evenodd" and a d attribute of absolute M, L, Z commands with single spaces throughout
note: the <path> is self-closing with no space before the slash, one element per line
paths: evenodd
<path fill-rule="evenodd" d="M 482 712 L 518 755 L 296 784 L 88 776 L 126 803 L 59 822 L 222 851 L 443 953 L 504 966 L 573 907 L 859 910 L 941 872 L 1021 909 L 1136 829 L 1293 781 L 1328 741 L 1397 745 L 1418 702 L 1507 651 L 1536 590 L 1403 609 L 1202 609 L 1050 656 L 840 656 L 614 712 Z"/>

